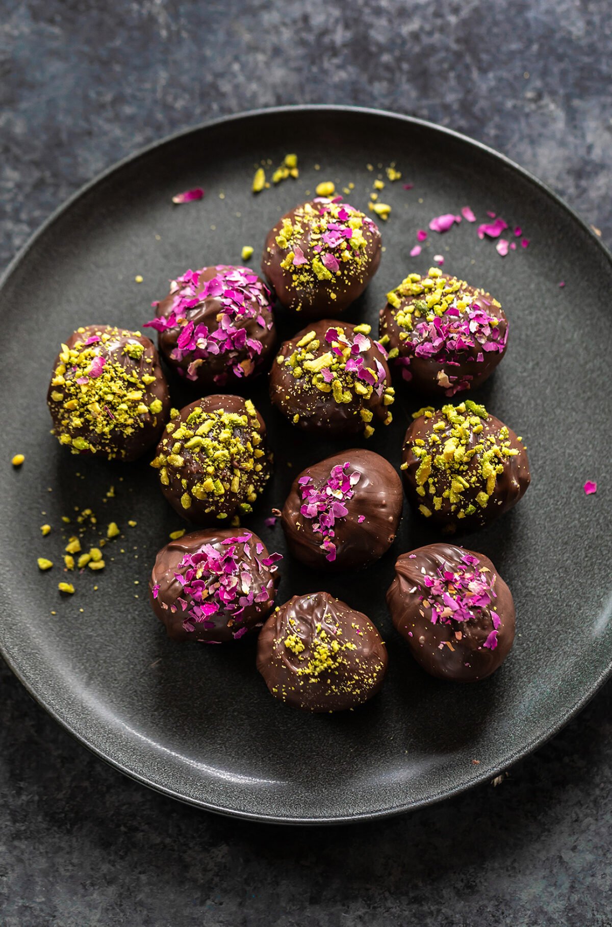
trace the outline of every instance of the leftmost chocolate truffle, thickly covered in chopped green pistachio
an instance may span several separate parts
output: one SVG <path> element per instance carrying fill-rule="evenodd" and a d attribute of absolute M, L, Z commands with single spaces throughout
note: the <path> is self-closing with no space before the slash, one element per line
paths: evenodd
<path fill-rule="evenodd" d="M 153 342 L 111 325 L 83 326 L 62 344 L 46 400 L 60 444 L 108 460 L 140 457 L 170 410 Z"/>

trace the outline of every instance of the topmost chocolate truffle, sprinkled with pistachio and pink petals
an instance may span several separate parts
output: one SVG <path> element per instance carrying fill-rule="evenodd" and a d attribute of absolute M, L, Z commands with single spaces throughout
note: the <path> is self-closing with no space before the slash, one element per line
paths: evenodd
<path fill-rule="evenodd" d="M 362 295 L 380 251 L 376 222 L 341 197 L 316 197 L 274 225 L 261 270 L 282 306 L 304 319 L 323 319 Z"/>

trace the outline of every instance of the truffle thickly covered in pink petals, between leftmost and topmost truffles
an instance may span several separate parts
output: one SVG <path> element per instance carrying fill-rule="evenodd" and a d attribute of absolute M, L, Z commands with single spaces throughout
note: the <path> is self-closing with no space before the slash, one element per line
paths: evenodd
<path fill-rule="evenodd" d="M 172 280 L 147 322 L 185 380 L 214 389 L 261 373 L 274 350 L 270 290 L 246 267 L 217 264 Z"/>

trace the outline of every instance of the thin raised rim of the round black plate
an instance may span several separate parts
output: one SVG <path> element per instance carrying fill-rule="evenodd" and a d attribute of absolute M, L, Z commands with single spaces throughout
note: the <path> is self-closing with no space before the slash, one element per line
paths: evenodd
<path fill-rule="evenodd" d="M 502 152 L 496 151 L 491 146 L 479 142 L 477 139 L 471 138 L 465 133 L 460 133 L 451 129 L 447 126 L 439 125 L 436 122 L 431 122 L 424 119 L 419 119 L 414 116 L 409 116 L 404 113 L 392 112 L 389 109 L 378 109 L 374 107 L 359 107 L 359 106 L 350 106 L 350 105 L 336 105 L 336 104 L 297 104 L 297 105 L 283 105 L 278 107 L 263 107 L 256 109 L 247 109 L 241 110 L 237 113 L 230 113 L 224 116 L 216 117 L 215 119 L 205 120 L 198 122 L 195 125 L 189 126 L 188 128 L 178 130 L 177 132 L 164 135 L 162 138 L 154 142 L 150 142 L 148 145 L 137 148 L 132 154 L 126 155 L 124 158 L 121 158 L 119 161 L 114 162 L 104 171 L 100 171 L 96 174 L 91 180 L 87 181 L 81 187 L 79 187 L 74 193 L 70 195 L 67 199 L 61 202 L 55 210 L 53 210 L 50 215 L 42 222 L 38 228 L 30 235 L 25 243 L 19 248 L 15 257 L 9 261 L 6 266 L 4 273 L 0 275 L 0 292 L 4 289 L 8 283 L 10 277 L 19 269 L 20 263 L 26 259 L 29 251 L 36 244 L 39 238 L 41 238 L 47 230 L 57 222 L 57 219 L 63 215 L 64 212 L 70 210 L 72 205 L 76 203 L 81 197 L 86 195 L 91 189 L 93 189 L 97 184 L 102 183 L 107 180 L 115 172 L 121 171 L 123 168 L 127 167 L 129 164 L 132 164 L 134 161 L 137 161 L 140 158 L 143 158 L 149 155 L 151 152 L 156 149 L 172 144 L 173 142 L 185 138 L 194 133 L 201 132 L 203 130 L 212 129 L 216 126 L 223 125 L 229 122 L 238 122 L 248 119 L 258 119 L 263 116 L 283 116 L 288 113 L 325 113 L 325 112 L 343 112 L 351 113 L 358 116 L 363 116 L 365 118 L 385 118 L 395 121 L 402 121 L 409 125 L 418 126 L 427 131 L 440 133 L 441 135 L 446 135 L 447 137 L 453 138 L 453 140 L 460 142 L 463 145 L 467 145 L 472 148 L 477 148 L 482 154 L 487 157 L 494 159 L 496 162 L 501 162 L 505 167 L 511 171 L 515 171 L 522 178 L 528 181 L 530 184 L 538 187 L 542 193 L 547 197 L 552 199 L 555 202 L 556 207 L 561 207 L 565 210 L 569 217 L 577 222 L 583 232 L 586 232 L 594 244 L 600 249 L 604 258 L 610 264 L 612 268 L 612 251 L 606 247 L 606 244 L 603 242 L 602 238 L 599 235 L 596 235 L 593 232 L 592 226 L 586 222 L 580 214 L 569 206 L 566 200 L 555 193 L 555 190 L 544 183 L 535 174 L 528 171 L 526 168 L 523 168 L 521 165 L 517 164 L 513 159 L 508 158 Z M 612 654 L 608 662 L 608 666 L 599 674 L 597 679 L 595 679 L 592 687 L 582 694 L 582 696 L 571 706 L 567 713 L 560 719 L 555 721 L 553 724 L 549 724 L 544 727 L 543 730 L 538 731 L 529 741 L 521 748 L 516 750 L 510 756 L 508 756 L 503 765 L 495 765 L 492 768 L 487 768 L 478 770 L 478 768 L 473 768 L 470 770 L 470 775 L 465 777 L 463 781 L 458 782 L 452 788 L 443 788 L 436 792 L 435 794 L 430 794 L 425 798 L 420 798 L 414 800 L 406 805 L 393 806 L 389 808 L 380 808 L 374 811 L 363 811 L 355 814 L 345 814 L 335 817 L 321 817 L 321 818 L 312 818 L 312 817 L 287 817 L 281 815 L 265 814 L 261 812 L 250 812 L 247 810 L 236 809 L 233 807 L 212 805 L 207 803 L 204 800 L 198 798 L 189 797 L 179 792 L 174 791 L 170 786 L 162 785 L 159 782 L 151 781 L 147 778 L 146 775 L 134 771 L 134 769 L 127 768 L 120 760 L 108 756 L 108 754 L 96 744 L 91 743 L 87 737 L 80 733 L 78 730 L 75 730 L 74 726 L 71 725 L 70 721 L 64 717 L 61 717 L 57 710 L 51 705 L 46 704 L 45 698 L 41 696 L 32 685 L 32 682 L 26 678 L 26 676 L 21 672 L 19 667 L 19 661 L 17 658 L 13 659 L 13 656 L 8 653 L 8 648 L 4 645 L 2 638 L 0 636 L 0 655 L 6 662 L 6 666 L 9 667 L 11 672 L 19 679 L 21 685 L 26 689 L 27 692 L 32 696 L 33 700 L 45 709 L 47 714 L 52 717 L 57 724 L 64 730 L 67 730 L 72 737 L 74 737 L 79 743 L 83 744 L 91 753 L 100 759 L 108 763 L 109 766 L 119 770 L 123 775 L 127 776 L 129 779 L 136 781 L 142 785 L 146 785 L 148 788 L 152 789 L 154 792 L 159 794 L 166 795 L 170 798 L 176 799 L 177 801 L 182 802 L 185 805 L 198 807 L 206 811 L 213 812 L 215 814 L 223 815 L 225 817 L 258 821 L 261 823 L 269 824 L 285 824 L 288 826 L 291 825 L 310 825 L 310 826 L 320 826 L 320 825 L 330 825 L 330 824 L 350 824 L 358 823 L 369 820 L 378 820 L 378 819 L 388 819 L 395 817 L 400 814 L 408 813 L 409 811 L 414 811 L 417 808 L 427 807 L 430 805 L 437 804 L 440 801 L 443 801 L 447 798 L 452 798 L 455 795 L 462 794 L 468 789 L 472 789 L 477 785 L 482 784 L 485 781 L 491 781 L 491 778 L 494 778 L 496 775 L 499 775 L 508 767 L 514 765 L 520 759 L 529 756 L 534 750 L 542 746 L 543 743 L 546 743 L 553 737 L 558 731 L 562 730 L 569 721 L 574 717 L 580 714 L 580 711 L 588 705 L 588 703 L 593 699 L 593 696 L 601 689 L 604 683 L 612 677 Z"/>

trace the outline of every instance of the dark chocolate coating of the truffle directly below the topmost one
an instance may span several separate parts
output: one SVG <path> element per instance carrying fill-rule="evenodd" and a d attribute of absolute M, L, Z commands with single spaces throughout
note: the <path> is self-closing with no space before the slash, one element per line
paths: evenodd
<path fill-rule="evenodd" d="M 323 319 L 307 325 L 290 341 L 285 341 L 270 370 L 270 399 L 289 421 L 293 422 L 294 416 L 299 415 L 298 421 L 294 424 L 303 431 L 318 435 L 343 438 L 362 434 L 368 425 L 374 427 L 380 422 L 389 424 L 391 415 L 388 405 L 393 401 L 391 376 L 384 355 L 376 348 L 371 338 L 370 348 L 363 354 L 363 359 L 368 367 L 374 368 L 376 361 L 381 364 L 385 376 L 385 388 L 380 396 L 377 395 L 376 390 L 372 391 L 369 398 L 353 391 L 350 402 L 338 402 L 332 392 L 322 392 L 312 384 L 312 375 L 304 372 L 304 375 L 297 379 L 293 375 L 292 367 L 284 362 L 278 362 L 279 358 L 283 361 L 290 358 L 297 349 L 298 342 L 309 332 L 314 332 L 316 339 L 320 342 L 319 348 L 312 351 L 312 354 L 315 358 L 321 357 L 330 348 L 325 341 L 325 332 L 329 328 L 343 329 L 347 337 L 354 337 L 354 325 L 333 319 Z M 363 418 L 362 410 L 365 410 L 366 414 L 372 413 L 373 417 L 369 422 Z"/>

